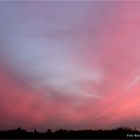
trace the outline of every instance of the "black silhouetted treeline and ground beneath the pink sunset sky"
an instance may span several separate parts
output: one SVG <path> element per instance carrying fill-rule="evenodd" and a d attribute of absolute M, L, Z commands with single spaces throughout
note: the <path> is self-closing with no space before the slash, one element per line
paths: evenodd
<path fill-rule="evenodd" d="M 140 131 L 127 127 L 112 130 L 57 130 L 28 132 L 24 129 L 0 131 L 0 139 L 140 139 Z"/>

